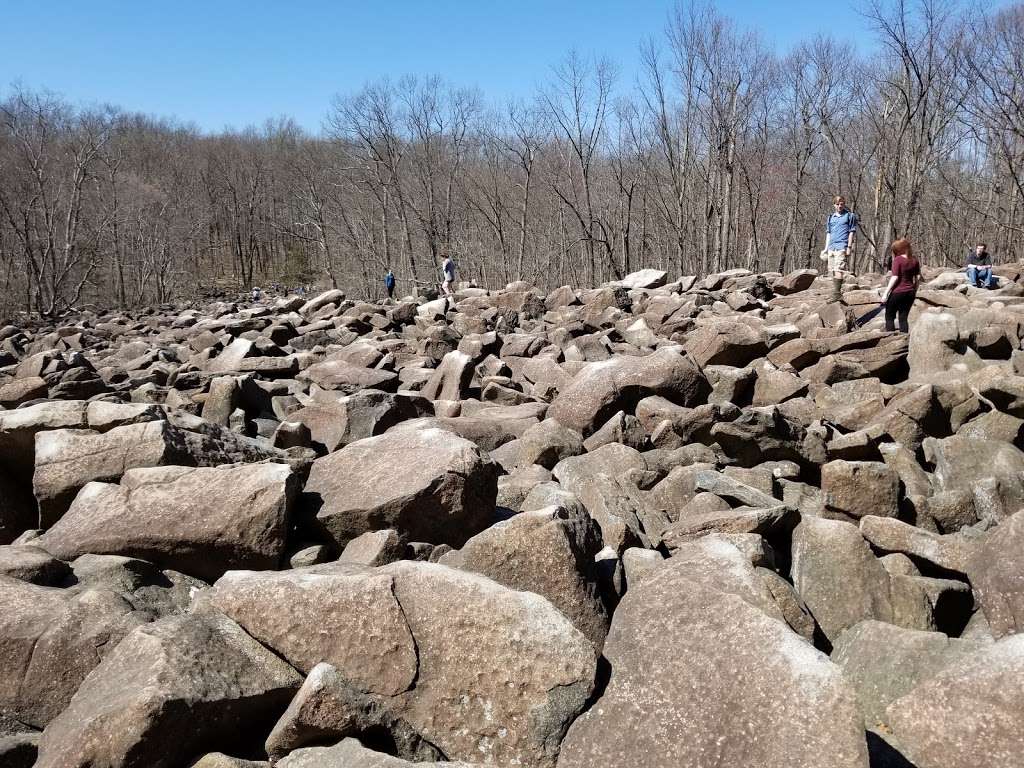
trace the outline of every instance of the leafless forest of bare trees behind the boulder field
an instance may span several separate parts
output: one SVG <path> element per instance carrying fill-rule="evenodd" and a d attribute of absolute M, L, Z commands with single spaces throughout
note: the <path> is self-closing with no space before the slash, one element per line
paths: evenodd
<path fill-rule="evenodd" d="M 826 11 L 824 11 L 826 12 Z M 0 317 L 252 286 L 382 293 L 460 279 L 591 286 L 644 267 L 817 266 L 836 194 L 853 267 L 1024 259 L 1024 4 L 878 0 L 869 53 L 784 53 L 712 5 L 643 44 L 635 82 L 569 53 L 532 97 L 382 79 L 217 134 L 13 86 L 0 94 Z"/>

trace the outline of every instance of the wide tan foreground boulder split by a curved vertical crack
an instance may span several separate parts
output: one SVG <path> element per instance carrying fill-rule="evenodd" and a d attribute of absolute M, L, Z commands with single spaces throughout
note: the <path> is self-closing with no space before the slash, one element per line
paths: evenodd
<path fill-rule="evenodd" d="M 358 622 L 339 613 L 339 627 L 348 618 L 348 628 L 333 637 L 291 637 L 290 627 L 318 626 L 321 607 L 347 599 L 330 595 L 330 581 L 303 581 L 310 573 L 348 580 L 344 593 L 358 596 L 364 590 L 359 599 L 367 606 L 374 600 L 385 606 L 393 601 L 398 609 L 387 615 L 395 623 L 382 625 L 369 610 Z M 289 582 L 287 589 L 283 580 Z M 246 582 L 244 611 L 237 610 L 243 603 L 231 595 Z M 329 676 L 331 684 L 312 679 L 319 674 L 315 671 L 310 675 L 307 684 L 315 692 L 296 698 L 274 729 L 276 745 L 286 740 L 298 745 L 301 733 L 312 725 L 303 726 L 304 719 L 332 710 L 338 717 L 316 724 L 318 738 L 358 735 L 375 727 L 390 731 L 399 751 L 425 741 L 452 760 L 550 768 L 565 729 L 593 689 L 593 645 L 557 608 L 539 595 L 476 573 L 409 561 L 361 571 L 327 564 L 292 577 L 228 577 L 223 588 L 219 597 L 221 585 L 214 589 L 214 600 L 271 647 L 295 655 L 296 648 L 318 644 L 342 664 Z M 304 589 L 317 596 L 302 597 Z M 290 607 L 293 601 L 297 607 Z M 411 643 L 396 634 L 398 622 Z M 409 650 L 411 663 L 396 648 Z M 400 664 L 392 668 L 389 660 Z M 408 674 L 399 680 L 401 670 Z M 394 692 L 399 688 L 404 689 Z M 352 716 L 353 710 L 359 717 Z M 423 759 L 423 753 L 399 757 Z"/>

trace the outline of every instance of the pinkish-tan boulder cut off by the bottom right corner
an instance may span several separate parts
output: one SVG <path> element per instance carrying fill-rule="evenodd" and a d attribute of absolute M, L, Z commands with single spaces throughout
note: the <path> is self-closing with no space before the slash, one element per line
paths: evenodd
<path fill-rule="evenodd" d="M 925 680 L 886 711 L 893 740 L 918 768 L 1016 765 L 1024 635 L 1005 638 Z"/>

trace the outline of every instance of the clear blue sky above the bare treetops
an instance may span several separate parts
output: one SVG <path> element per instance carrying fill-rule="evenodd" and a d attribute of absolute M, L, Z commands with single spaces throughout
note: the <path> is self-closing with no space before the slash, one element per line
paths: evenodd
<path fill-rule="evenodd" d="M 489 99 L 527 96 L 575 48 L 633 81 L 674 0 L 0 0 L 0 93 L 13 82 L 75 102 L 205 130 L 287 115 L 317 130 L 331 98 L 387 75 L 437 74 Z M 784 50 L 818 32 L 861 49 L 849 3 L 719 0 Z"/>

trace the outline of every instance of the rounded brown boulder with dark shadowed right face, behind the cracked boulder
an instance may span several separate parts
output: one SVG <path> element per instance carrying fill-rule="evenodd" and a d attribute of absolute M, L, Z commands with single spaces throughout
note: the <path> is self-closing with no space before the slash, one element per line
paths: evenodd
<path fill-rule="evenodd" d="M 436 428 L 391 430 L 313 462 L 307 507 L 344 547 L 368 530 L 462 546 L 495 512 L 498 469 L 486 454 Z"/>

